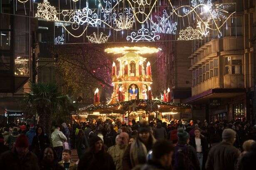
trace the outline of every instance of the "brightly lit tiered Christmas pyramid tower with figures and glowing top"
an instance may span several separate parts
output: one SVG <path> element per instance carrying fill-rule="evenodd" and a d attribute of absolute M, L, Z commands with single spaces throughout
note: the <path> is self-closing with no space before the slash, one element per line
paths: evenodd
<path fill-rule="evenodd" d="M 107 53 L 122 55 L 122 57 L 117 58 L 119 70 L 117 71 L 115 62 L 112 65 L 114 92 L 108 104 L 151 97 L 151 91 L 150 94 L 148 93 L 152 84 L 151 66 L 147 62 L 146 69 L 144 69 L 146 58 L 141 55 L 158 51 L 159 49 L 154 47 L 114 47 L 105 49 Z"/>

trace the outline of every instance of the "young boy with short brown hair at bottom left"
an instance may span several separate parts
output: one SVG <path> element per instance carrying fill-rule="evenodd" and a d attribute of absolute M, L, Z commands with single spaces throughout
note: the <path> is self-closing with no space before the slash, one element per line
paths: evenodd
<path fill-rule="evenodd" d="M 62 160 L 59 164 L 64 167 L 65 170 L 77 170 L 77 164 L 71 161 L 71 150 L 65 149 L 62 151 Z"/>

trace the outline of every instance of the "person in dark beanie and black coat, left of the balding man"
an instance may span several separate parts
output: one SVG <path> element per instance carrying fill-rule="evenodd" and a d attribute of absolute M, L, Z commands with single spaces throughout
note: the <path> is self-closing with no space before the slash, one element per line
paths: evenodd
<path fill-rule="evenodd" d="M 78 163 L 77 170 L 115 170 L 114 161 L 106 152 L 103 141 L 99 136 L 89 138 L 89 150 Z"/>

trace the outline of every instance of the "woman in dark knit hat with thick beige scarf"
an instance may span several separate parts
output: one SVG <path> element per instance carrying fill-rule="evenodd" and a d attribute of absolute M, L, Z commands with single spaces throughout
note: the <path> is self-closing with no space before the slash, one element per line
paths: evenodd
<path fill-rule="evenodd" d="M 149 125 L 146 122 L 141 123 L 137 138 L 124 151 L 123 170 L 131 170 L 136 165 L 146 163 L 147 154 L 155 142 L 156 139 L 152 135 Z"/>

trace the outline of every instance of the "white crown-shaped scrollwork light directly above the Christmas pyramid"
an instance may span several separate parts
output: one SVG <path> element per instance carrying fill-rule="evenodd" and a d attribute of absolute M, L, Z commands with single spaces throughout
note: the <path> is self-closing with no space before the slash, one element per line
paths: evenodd
<path fill-rule="evenodd" d="M 149 32 L 148 29 L 144 28 L 144 24 L 142 24 L 142 28 L 138 30 L 138 32 L 132 32 L 130 36 L 126 37 L 127 41 L 131 40 L 131 42 L 139 42 L 139 41 L 155 41 L 155 39 L 159 40 L 160 36 L 156 35 L 154 32 Z"/>

